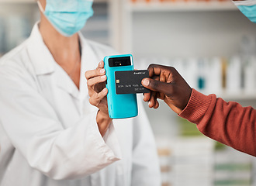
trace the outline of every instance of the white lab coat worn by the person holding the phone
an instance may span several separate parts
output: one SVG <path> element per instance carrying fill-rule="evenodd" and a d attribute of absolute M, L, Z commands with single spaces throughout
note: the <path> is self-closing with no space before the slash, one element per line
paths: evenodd
<path fill-rule="evenodd" d="M 38 25 L 0 60 L 1 186 L 160 185 L 144 109 L 114 120 L 104 138 L 88 102 L 85 71 L 115 52 L 80 34 L 80 90 L 54 61 Z"/>

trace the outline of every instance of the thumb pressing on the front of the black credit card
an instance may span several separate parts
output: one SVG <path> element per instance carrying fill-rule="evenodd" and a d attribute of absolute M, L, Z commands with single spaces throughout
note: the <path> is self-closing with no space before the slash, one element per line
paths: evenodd
<path fill-rule="evenodd" d="M 171 95 L 172 84 L 156 81 L 150 78 L 144 78 L 141 81 L 141 84 L 144 85 L 145 88 L 150 89 L 151 91 L 159 91 L 164 93 L 165 95 Z"/>

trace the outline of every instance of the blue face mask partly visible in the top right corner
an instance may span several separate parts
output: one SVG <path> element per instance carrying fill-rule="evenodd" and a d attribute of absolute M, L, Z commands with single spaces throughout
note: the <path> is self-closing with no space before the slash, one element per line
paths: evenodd
<path fill-rule="evenodd" d="M 234 4 L 251 22 L 256 23 L 256 0 L 235 1 Z"/>

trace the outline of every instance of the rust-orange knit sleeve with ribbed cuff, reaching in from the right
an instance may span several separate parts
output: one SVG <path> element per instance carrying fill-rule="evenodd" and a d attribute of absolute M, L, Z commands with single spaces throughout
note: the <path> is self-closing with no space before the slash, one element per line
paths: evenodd
<path fill-rule="evenodd" d="M 209 138 L 256 157 L 256 110 L 251 106 L 242 107 L 193 89 L 179 116 L 195 123 Z"/>

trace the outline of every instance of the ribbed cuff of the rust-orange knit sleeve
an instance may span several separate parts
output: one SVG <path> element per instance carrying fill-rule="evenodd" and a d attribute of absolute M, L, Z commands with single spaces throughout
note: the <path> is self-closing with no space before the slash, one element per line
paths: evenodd
<path fill-rule="evenodd" d="M 213 95 L 203 95 L 199 91 L 192 89 L 188 105 L 178 116 L 197 124 L 202 119 L 203 115 L 206 114 L 212 102 L 212 98 Z"/>

